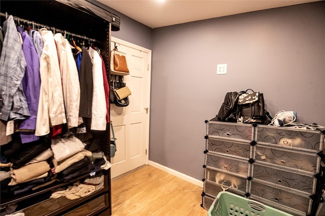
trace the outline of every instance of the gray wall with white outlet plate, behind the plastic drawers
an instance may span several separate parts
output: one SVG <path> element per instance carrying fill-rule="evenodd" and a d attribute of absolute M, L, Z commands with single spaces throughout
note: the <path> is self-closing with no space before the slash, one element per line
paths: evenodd
<path fill-rule="evenodd" d="M 324 20 L 317 2 L 153 29 L 149 159 L 202 179 L 204 121 L 229 91 L 325 126 Z"/>

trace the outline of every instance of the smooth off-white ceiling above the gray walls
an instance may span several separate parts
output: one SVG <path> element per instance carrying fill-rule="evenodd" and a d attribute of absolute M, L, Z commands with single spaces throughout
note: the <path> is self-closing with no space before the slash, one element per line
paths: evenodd
<path fill-rule="evenodd" d="M 320 0 L 97 0 L 151 28 Z"/>

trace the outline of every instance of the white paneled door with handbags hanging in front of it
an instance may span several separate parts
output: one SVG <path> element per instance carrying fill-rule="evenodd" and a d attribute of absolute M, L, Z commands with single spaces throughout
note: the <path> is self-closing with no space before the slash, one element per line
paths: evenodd
<path fill-rule="evenodd" d="M 125 53 L 130 74 L 123 81 L 132 93 L 128 106 L 110 104 L 117 149 L 111 158 L 114 178 L 149 161 L 151 51 L 114 37 L 111 41 L 111 49 L 116 45 L 118 51 Z"/>

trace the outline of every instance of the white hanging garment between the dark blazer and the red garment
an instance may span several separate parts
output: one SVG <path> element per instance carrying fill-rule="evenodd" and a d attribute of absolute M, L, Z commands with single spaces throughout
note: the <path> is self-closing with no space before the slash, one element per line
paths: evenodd
<path fill-rule="evenodd" d="M 92 115 L 91 115 L 91 130 L 106 130 L 106 104 L 104 101 L 104 80 L 102 59 L 97 51 L 89 47 L 88 50 L 92 62 Z"/>

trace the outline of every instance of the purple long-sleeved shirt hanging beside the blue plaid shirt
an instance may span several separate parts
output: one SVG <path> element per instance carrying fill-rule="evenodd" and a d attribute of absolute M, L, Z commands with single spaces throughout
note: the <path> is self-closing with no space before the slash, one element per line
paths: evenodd
<path fill-rule="evenodd" d="M 37 55 L 34 44 L 32 44 L 28 34 L 24 32 L 21 26 L 17 27 L 18 32 L 21 34 L 23 40 L 22 51 L 26 60 L 25 75 L 21 81 L 23 90 L 25 92 L 28 111 L 30 117 L 19 123 L 19 129 L 35 130 L 36 117 L 40 98 L 41 78 L 40 78 L 40 60 Z M 39 137 L 35 136 L 35 132 L 20 132 L 22 143 L 38 140 Z"/>

